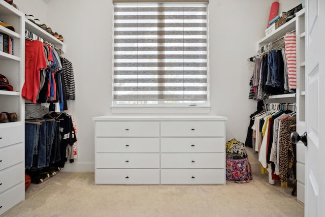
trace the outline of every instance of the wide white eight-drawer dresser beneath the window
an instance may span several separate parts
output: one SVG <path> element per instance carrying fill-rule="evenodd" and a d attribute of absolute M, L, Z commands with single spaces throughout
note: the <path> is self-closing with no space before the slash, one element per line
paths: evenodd
<path fill-rule="evenodd" d="M 95 184 L 225 184 L 221 116 L 100 116 Z"/>

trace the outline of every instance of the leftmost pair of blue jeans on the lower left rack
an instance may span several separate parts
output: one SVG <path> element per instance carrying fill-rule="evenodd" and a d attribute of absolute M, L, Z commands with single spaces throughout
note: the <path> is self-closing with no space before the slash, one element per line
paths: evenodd
<path fill-rule="evenodd" d="M 28 120 L 36 122 L 36 120 Z M 25 169 L 32 167 L 33 158 L 38 154 L 40 125 L 25 123 Z"/>

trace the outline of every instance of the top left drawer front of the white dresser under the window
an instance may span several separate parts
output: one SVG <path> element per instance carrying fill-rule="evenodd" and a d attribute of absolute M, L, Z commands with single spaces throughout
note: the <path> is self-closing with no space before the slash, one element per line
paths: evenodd
<path fill-rule="evenodd" d="M 159 122 L 96 121 L 96 136 L 159 137 Z"/>

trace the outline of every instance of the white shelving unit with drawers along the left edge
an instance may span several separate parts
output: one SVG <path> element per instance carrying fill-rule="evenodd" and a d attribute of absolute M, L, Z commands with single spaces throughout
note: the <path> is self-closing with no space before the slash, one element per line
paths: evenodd
<path fill-rule="evenodd" d="M 24 14 L 0 1 L 0 20 L 12 25 L 15 32 L 0 26 L 0 32 L 14 39 L 14 55 L 0 52 L 0 74 L 7 77 L 13 91 L 0 90 L 0 112 L 15 112 L 16 122 L 0 123 L 0 215 L 25 199 L 24 183 Z"/>

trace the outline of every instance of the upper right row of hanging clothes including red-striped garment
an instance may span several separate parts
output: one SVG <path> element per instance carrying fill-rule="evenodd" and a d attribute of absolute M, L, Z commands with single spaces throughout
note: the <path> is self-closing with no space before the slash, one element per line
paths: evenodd
<path fill-rule="evenodd" d="M 254 99 L 252 87 L 257 101 L 296 92 L 296 33 L 287 33 L 262 47 L 261 52 L 255 56 L 249 99 Z"/>

